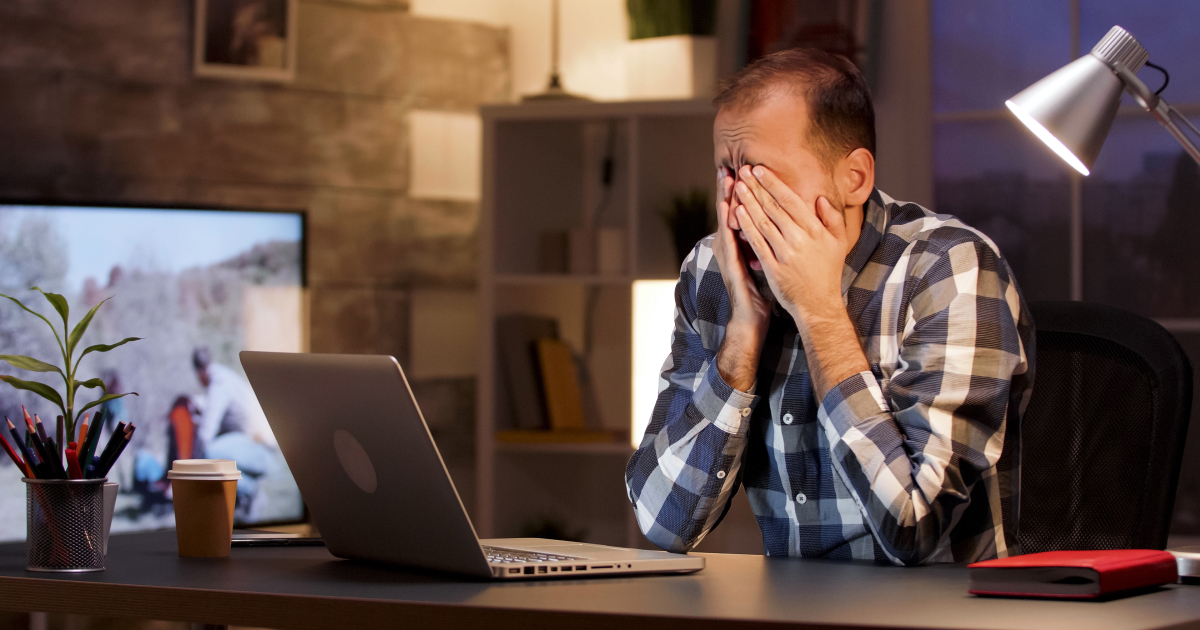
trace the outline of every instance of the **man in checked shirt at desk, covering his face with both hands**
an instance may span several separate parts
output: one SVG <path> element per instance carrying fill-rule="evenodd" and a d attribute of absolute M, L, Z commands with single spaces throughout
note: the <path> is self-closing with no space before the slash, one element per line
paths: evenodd
<path fill-rule="evenodd" d="M 775 53 L 714 103 L 718 232 L 680 270 L 625 474 L 642 532 L 690 550 L 740 485 L 769 556 L 1013 553 L 1033 322 L 1000 251 L 875 188 L 845 58 Z"/>

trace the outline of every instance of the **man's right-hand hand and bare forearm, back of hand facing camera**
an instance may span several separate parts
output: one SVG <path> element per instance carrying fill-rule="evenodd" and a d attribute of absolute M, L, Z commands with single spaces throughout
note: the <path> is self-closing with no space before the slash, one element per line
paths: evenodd
<path fill-rule="evenodd" d="M 742 233 L 796 320 L 820 402 L 838 383 L 870 368 L 841 299 L 842 266 L 854 245 L 845 216 L 826 197 L 802 199 L 762 166 L 742 167 L 734 194 Z"/>

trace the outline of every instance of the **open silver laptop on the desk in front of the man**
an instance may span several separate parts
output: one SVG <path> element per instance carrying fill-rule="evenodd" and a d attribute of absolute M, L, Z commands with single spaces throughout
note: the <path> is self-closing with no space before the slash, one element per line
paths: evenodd
<path fill-rule="evenodd" d="M 241 365 L 334 556 L 498 580 L 704 568 L 662 551 L 480 540 L 391 356 L 242 352 Z"/>

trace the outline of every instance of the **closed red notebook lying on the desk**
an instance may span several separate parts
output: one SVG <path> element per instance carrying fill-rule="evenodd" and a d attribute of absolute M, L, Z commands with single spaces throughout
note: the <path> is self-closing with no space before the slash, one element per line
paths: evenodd
<path fill-rule="evenodd" d="M 967 565 L 971 593 L 1093 599 L 1178 578 L 1175 556 L 1158 550 L 1046 551 Z"/>

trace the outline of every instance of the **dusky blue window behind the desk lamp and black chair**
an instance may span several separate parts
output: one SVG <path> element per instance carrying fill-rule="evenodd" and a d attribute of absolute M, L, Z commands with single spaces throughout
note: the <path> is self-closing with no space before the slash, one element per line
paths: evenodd
<path fill-rule="evenodd" d="M 1200 168 L 1128 96 L 1087 178 L 1004 107 L 1117 24 L 1171 72 L 1163 97 L 1194 121 L 1200 2 L 934 0 L 931 19 L 936 210 L 991 236 L 1027 299 L 1152 317 L 1200 365 Z M 1139 76 L 1162 85 L 1153 68 Z M 1189 434 L 1172 532 L 1200 534 L 1200 430 Z"/>

